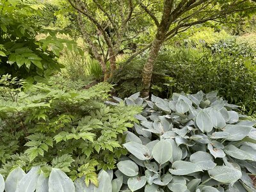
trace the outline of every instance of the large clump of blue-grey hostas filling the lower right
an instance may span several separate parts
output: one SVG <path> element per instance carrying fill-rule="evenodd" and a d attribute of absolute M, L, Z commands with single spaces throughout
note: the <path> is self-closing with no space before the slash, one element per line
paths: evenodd
<path fill-rule="evenodd" d="M 120 99 L 114 98 L 117 101 Z M 117 164 L 126 191 L 255 191 L 255 122 L 216 92 L 174 93 L 171 100 L 139 93 L 125 99 L 143 105 Z"/>

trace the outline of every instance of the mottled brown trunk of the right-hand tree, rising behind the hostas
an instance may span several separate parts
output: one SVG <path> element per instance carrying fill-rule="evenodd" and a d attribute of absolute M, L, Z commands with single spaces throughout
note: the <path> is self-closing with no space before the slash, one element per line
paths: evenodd
<path fill-rule="evenodd" d="M 141 97 L 147 97 L 149 95 L 150 83 L 152 79 L 152 72 L 154 68 L 154 63 L 156 61 L 158 52 L 161 48 L 161 45 L 164 42 L 165 33 L 158 31 L 156 38 L 152 42 L 152 46 L 150 47 L 150 51 L 148 54 L 148 60 L 145 63 L 142 71 L 142 83 L 143 89 L 141 92 Z"/>

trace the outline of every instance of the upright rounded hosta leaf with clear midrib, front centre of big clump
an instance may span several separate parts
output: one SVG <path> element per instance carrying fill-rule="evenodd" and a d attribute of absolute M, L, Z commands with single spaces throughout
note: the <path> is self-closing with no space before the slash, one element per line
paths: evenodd
<path fill-rule="evenodd" d="M 159 141 L 152 150 L 152 156 L 157 163 L 166 163 L 172 157 L 172 144 L 166 140 Z"/>

